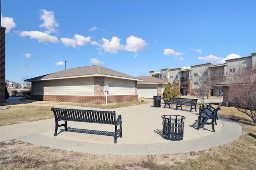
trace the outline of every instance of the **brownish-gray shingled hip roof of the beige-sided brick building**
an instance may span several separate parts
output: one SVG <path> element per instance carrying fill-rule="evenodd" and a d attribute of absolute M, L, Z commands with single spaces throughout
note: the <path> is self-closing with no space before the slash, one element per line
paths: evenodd
<path fill-rule="evenodd" d="M 104 76 L 104 77 L 113 77 L 113 78 L 142 81 L 136 77 L 129 76 L 127 74 L 124 74 L 115 70 L 111 70 L 99 65 L 70 68 L 68 70 L 62 70 L 59 72 L 54 72 L 52 74 L 46 74 L 44 76 L 30 78 L 25 81 L 31 82 L 31 81 L 39 81 L 39 80 L 54 80 L 54 79 L 92 77 L 92 76 Z"/>

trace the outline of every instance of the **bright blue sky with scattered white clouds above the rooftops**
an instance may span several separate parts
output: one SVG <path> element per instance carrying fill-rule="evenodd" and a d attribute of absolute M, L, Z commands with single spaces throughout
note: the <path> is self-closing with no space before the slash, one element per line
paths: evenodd
<path fill-rule="evenodd" d="M 1 0 L 6 79 L 100 65 L 130 76 L 256 52 L 256 1 Z"/>

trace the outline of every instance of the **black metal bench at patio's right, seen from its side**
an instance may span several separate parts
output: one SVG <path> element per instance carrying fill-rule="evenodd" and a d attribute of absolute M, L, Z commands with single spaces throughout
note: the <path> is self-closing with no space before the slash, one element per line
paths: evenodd
<path fill-rule="evenodd" d="M 217 125 L 216 123 L 216 117 L 218 110 L 220 110 L 221 105 L 219 104 L 216 109 L 209 109 L 208 107 L 204 108 L 203 111 L 200 111 L 199 116 L 198 116 L 198 126 L 197 130 L 199 130 L 201 125 L 212 125 L 212 131 L 215 132 L 214 129 L 214 124 Z M 208 122 L 208 120 L 211 120 Z"/>

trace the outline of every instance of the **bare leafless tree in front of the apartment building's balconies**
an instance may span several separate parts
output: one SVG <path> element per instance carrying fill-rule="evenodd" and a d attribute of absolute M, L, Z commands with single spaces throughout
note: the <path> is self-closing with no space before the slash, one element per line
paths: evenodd
<path fill-rule="evenodd" d="M 223 75 L 219 70 L 219 67 L 204 67 L 198 75 L 194 76 L 194 85 L 197 88 L 195 94 L 202 104 L 204 104 L 205 98 L 209 97 L 214 85 L 223 82 Z"/>

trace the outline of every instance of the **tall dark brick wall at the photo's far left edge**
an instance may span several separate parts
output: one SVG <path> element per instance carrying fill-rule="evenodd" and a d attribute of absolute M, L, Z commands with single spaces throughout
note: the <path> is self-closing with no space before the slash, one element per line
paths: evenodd
<path fill-rule="evenodd" d="M 5 102 L 5 27 L 0 27 L 0 103 Z"/>

